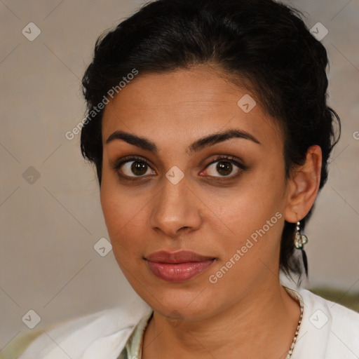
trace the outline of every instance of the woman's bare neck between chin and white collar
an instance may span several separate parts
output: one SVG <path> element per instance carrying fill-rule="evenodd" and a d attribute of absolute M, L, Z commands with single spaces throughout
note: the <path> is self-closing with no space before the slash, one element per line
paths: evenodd
<path fill-rule="evenodd" d="M 144 334 L 142 358 L 285 359 L 299 316 L 299 304 L 273 282 L 197 322 L 174 325 L 155 311 Z"/>

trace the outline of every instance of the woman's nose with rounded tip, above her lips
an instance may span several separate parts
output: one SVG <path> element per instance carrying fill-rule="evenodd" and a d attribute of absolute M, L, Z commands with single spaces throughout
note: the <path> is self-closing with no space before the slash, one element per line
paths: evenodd
<path fill-rule="evenodd" d="M 149 224 L 165 237 L 177 238 L 201 226 L 201 201 L 189 188 L 186 177 L 177 184 L 164 177 L 163 187 L 151 206 Z"/>

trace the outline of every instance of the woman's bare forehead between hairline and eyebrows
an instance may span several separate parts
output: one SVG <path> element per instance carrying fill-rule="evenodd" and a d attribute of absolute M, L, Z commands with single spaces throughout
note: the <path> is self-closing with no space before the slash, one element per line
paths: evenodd
<path fill-rule="evenodd" d="M 248 111 L 249 109 L 249 111 Z M 102 137 L 116 130 L 155 139 L 201 137 L 238 128 L 260 142 L 280 139 L 276 121 L 265 114 L 255 93 L 231 83 L 210 67 L 138 74 L 104 109 Z"/>

